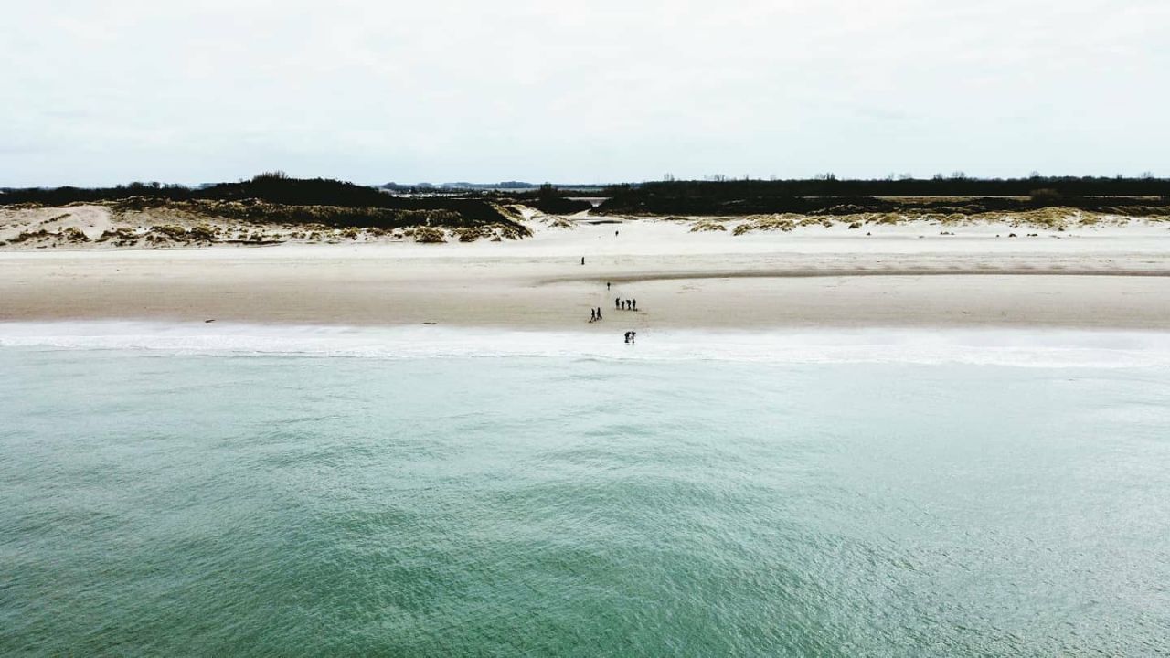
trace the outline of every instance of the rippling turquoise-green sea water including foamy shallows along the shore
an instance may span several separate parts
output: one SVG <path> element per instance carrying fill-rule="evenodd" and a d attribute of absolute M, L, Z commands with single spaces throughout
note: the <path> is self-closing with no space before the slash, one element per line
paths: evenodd
<path fill-rule="evenodd" d="M 9 341 L 0 654 L 1158 654 L 1170 369 L 1089 342 Z"/>

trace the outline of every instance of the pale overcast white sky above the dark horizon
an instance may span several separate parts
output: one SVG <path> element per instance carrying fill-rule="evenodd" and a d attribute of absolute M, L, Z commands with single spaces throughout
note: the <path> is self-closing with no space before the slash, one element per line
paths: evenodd
<path fill-rule="evenodd" d="M 39 0 L 0 186 L 1170 176 L 1166 0 Z"/>

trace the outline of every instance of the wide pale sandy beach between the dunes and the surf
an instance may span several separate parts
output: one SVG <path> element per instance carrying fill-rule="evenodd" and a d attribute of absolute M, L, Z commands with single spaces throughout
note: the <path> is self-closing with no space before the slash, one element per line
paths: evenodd
<path fill-rule="evenodd" d="M 537 226 L 505 242 L 12 249 L 0 252 L 0 321 L 1170 328 L 1164 222 L 689 228 L 644 219 Z M 589 323 L 591 308 L 601 322 Z"/>

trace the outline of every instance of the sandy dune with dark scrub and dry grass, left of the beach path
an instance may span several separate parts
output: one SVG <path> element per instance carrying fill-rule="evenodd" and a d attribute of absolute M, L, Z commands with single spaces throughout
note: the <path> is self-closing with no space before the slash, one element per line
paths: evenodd
<path fill-rule="evenodd" d="M 204 246 L 399 239 L 517 240 L 531 235 L 502 197 L 395 197 L 326 179 L 262 174 L 193 189 L 131 184 L 0 192 L 0 246 Z"/>

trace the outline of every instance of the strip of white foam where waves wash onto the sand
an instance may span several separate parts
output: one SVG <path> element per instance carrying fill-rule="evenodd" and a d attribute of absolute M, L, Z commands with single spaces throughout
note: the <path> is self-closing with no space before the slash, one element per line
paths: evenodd
<path fill-rule="evenodd" d="M 557 357 L 778 363 L 1170 366 L 1170 333 L 1020 329 L 515 331 L 165 322 L 0 323 L 0 347 L 367 358 Z"/>

